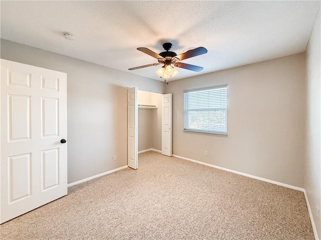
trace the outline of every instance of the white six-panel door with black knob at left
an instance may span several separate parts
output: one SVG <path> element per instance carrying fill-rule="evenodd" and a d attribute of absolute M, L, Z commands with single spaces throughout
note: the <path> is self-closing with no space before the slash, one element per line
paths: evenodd
<path fill-rule="evenodd" d="M 1 59 L 1 223 L 67 194 L 67 74 Z"/>

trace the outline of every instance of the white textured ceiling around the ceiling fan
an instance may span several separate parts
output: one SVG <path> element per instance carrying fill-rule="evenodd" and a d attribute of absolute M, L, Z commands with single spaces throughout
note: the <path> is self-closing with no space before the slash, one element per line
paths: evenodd
<path fill-rule="evenodd" d="M 1 38 L 161 80 L 150 66 L 172 51 L 204 46 L 172 78 L 190 77 L 302 52 L 320 1 L 1 1 Z M 76 39 L 66 40 L 62 32 Z"/>

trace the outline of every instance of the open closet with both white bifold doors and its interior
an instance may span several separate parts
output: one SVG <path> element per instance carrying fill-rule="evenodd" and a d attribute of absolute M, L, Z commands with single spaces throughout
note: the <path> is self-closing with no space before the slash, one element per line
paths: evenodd
<path fill-rule="evenodd" d="M 138 152 L 172 156 L 172 93 L 127 88 L 127 165 L 138 168 Z"/>

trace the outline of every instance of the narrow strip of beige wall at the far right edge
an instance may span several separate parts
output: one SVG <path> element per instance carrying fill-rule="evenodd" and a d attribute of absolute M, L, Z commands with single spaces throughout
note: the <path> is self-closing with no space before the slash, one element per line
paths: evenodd
<path fill-rule="evenodd" d="M 304 172 L 304 188 L 307 193 L 311 212 L 321 237 L 321 221 L 317 218 L 317 207 L 321 210 L 321 156 L 320 156 L 320 11 L 316 17 L 306 49 L 306 162 Z M 320 212 L 321 214 L 321 212 Z M 321 217 L 321 216 L 320 216 Z"/>

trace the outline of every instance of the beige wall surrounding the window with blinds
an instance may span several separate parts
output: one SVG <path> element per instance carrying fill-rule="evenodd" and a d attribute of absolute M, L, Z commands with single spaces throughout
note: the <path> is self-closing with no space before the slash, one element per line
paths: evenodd
<path fill-rule="evenodd" d="M 304 64 L 300 53 L 171 81 L 173 154 L 303 187 Z M 228 136 L 185 133 L 183 90 L 225 83 Z"/>

